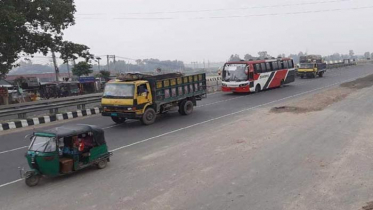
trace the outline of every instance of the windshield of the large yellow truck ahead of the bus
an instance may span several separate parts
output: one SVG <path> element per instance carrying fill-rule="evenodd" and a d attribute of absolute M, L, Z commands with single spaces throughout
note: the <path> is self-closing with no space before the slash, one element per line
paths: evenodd
<path fill-rule="evenodd" d="M 115 84 L 105 85 L 104 98 L 133 98 L 135 86 L 133 84 Z"/>

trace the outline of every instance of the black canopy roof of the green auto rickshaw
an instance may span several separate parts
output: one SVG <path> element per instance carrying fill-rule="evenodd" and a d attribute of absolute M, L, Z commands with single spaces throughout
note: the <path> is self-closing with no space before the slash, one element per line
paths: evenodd
<path fill-rule="evenodd" d="M 87 133 L 92 133 L 93 141 L 95 141 L 98 146 L 106 144 L 104 130 L 93 125 L 66 125 L 45 131 L 34 132 L 34 136 L 64 138 Z"/>

